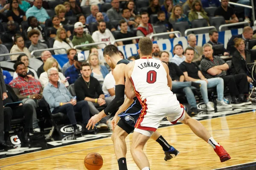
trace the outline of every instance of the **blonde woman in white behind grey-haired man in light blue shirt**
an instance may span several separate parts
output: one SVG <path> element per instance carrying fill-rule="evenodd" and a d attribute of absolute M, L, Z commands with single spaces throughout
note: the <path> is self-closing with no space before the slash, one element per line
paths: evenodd
<path fill-rule="evenodd" d="M 46 85 L 48 85 L 49 83 L 47 71 L 52 67 L 55 67 L 58 69 L 58 62 L 55 58 L 50 57 L 45 61 L 44 73 L 42 73 L 39 77 L 39 81 L 41 82 L 41 85 L 43 88 L 46 87 Z M 66 87 L 69 86 L 69 83 L 67 82 L 66 77 L 61 72 L 58 72 L 58 76 L 59 76 L 59 79 L 58 79 L 59 82 L 63 83 Z"/>

